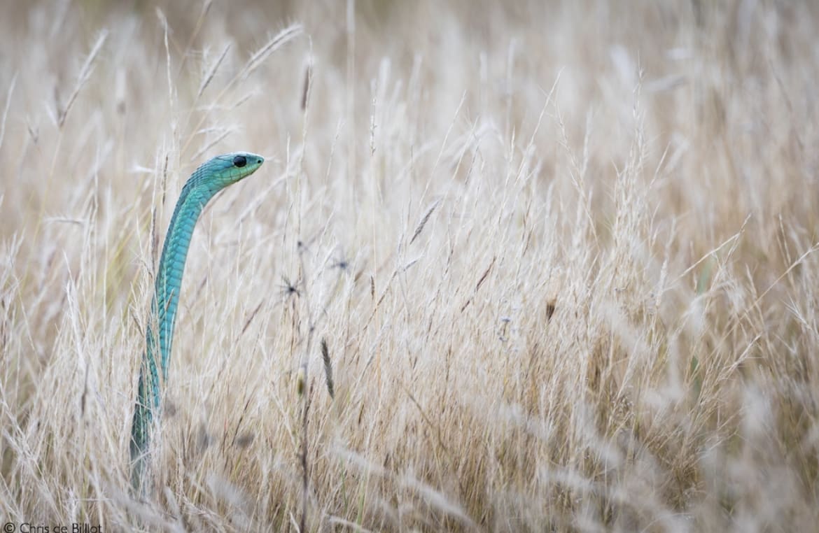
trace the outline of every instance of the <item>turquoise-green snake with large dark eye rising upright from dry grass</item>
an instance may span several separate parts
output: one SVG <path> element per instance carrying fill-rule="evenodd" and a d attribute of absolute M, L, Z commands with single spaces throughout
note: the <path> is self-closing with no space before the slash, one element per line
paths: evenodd
<path fill-rule="evenodd" d="M 179 289 L 182 287 L 182 274 L 188 259 L 193 228 L 196 227 L 202 210 L 219 191 L 247 178 L 264 162 L 262 156 L 246 151 L 215 156 L 191 174 L 179 194 L 174 215 L 171 216 L 168 232 L 165 234 L 156 273 L 151 317 L 145 328 L 146 346 L 139 368 L 137 400 L 133 409 L 131 484 L 138 495 L 145 494 L 151 431 L 155 418 L 158 420 L 160 417 L 162 385 L 168 382 Z"/>

